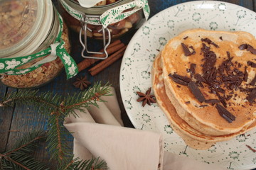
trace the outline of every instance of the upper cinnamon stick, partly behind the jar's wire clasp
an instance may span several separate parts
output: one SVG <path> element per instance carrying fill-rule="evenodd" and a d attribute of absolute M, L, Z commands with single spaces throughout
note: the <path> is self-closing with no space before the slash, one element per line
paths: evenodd
<path fill-rule="evenodd" d="M 118 50 L 118 47 L 121 48 L 123 45 L 119 45 L 121 44 L 121 40 L 115 40 L 114 42 L 110 43 L 110 45 L 107 47 L 107 52 L 109 55 L 111 55 L 114 50 Z M 119 46 L 117 46 L 119 45 Z M 100 52 L 103 52 L 104 49 L 100 50 Z M 105 55 L 103 55 L 104 57 Z M 97 55 L 92 55 L 92 57 L 98 57 Z M 88 67 L 90 67 L 92 64 L 94 64 L 95 62 L 100 61 L 100 59 L 85 59 L 82 60 L 82 62 L 78 63 L 78 72 L 81 72 L 83 69 L 87 69 Z"/>

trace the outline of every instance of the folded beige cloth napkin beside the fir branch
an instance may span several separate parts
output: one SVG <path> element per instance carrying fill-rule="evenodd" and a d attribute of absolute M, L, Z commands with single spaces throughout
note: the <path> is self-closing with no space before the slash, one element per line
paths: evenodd
<path fill-rule="evenodd" d="M 110 170 L 186 170 L 214 169 L 193 159 L 164 152 L 161 134 L 122 127 L 121 111 L 114 88 L 113 96 L 102 96 L 99 108 L 91 106 L 85 113 L 75 111 L 76 118 L 65 118 L 65 128 L 74 137 L 74 156 L 80 159 L 100 157 Z"/>

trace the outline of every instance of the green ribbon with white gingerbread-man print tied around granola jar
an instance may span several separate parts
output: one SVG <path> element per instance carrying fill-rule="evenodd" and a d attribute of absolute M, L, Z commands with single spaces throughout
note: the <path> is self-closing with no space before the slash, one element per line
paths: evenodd
<path fill-rule="evenodd" d="M 73 58 L 68 54 L 68 52 L 64 48 L 65 42 L 62 40 L 61 35 L 63 33 L 63 19 L 58 14 L 60 20 L 60 31 L 58 33 L 55 42 L 50 45 L 46 50 L 42 50 L 41 52 L 37 52 L 33 55 L 27 55 L 23 57 L 14 57 L 14 58 L 0 58 L 0 74 L 8 74 L 8 75 L 18 75 L 18 74 L 26 74 L 28 72 L 32 72 L 33 70 L 41 67 L 46 62 L 53 61 L 58 57 L 63 62 L 65 67 L 65 72 L 67 74 L 67 79 L 74 77 L 78 74 L 78 66 L 75 64 Z M 47 56 L 47 57 L 46 57 Z M 46 57 L 43 60 L 33 64 L 31 67 L 26 69 L 16 69 L 17 67 L 22 66 L 32 60 L 35 60 L 39 57 Z"/>

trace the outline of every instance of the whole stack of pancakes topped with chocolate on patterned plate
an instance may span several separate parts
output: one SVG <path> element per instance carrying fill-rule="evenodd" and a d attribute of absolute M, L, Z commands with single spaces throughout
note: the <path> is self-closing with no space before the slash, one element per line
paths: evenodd
<path fill-rule="evenodd" d="M 188 146 L 208 149 L 255 127 L 254 47 L 250 33 L 193 29 L 156 57 L 156 101 Z"/>

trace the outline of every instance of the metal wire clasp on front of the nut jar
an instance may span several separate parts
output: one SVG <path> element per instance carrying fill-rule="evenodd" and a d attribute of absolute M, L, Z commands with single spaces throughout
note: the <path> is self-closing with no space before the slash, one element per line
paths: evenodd
<path fill-rule="evenodd" d="M 99 33 L 102 33 L 104 51 L 103 52 L 89 51 L 88 47 L 87 47 L 87 30 L 89 30 L 89 31 L 92 31 L 92 30 L 87 27 L 87 21 L 93 21 L 92 18 L 95 19 L 95 25 L 100 26 L 99 24 L 97 24 L 97 23 L 100 22 L 100 16 L 85 15 L 85 17 L 83 18 L 83 21 L 80 21 L 82 26 L 81 26 L 80 33 L 79 33 L 79 40 L 80 40 L 80 43 L 83 47 L 81 55 L 84 58 L 105 60 L 108 57 L 107 47 L 110 45 L 110 42 L 111 42 L 110 29 L 109 28 L 103 28 L 103 26 L 102 26 L 102 29 L 99 30 Z M 82 40 L 82 31 L 84 32 L 84 36 L 83 36 L 84 40 Z M 107 31 L 107 35 L 108 35 L 108 40 L 106 40 L 106 35 L 105 35 L 106 31 Z M 91 56 L 85 55 L 85 51 L 88 54 L 97 54 L 97 55 L 105 54 L 106 56 L 105 57 L 91 57 Z"/>

